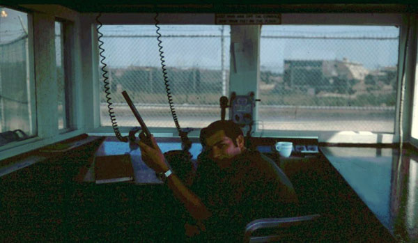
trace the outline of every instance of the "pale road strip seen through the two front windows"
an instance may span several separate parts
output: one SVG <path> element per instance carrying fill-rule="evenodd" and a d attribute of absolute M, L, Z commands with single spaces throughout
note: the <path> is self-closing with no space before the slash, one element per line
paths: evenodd
<path fill-rule="evenodd" d="M 135 104 L 144 121 L 150 127 L 174 127 L 168 105 Z M 126 104 L 115 104 L 114 111 L 119 126 L 137 126 L 137 120 Z M 176 105 L 181 127 L 205 127 L 220 118 L 216 105 L 197 107 Z M 100 107 L 102 125 L 111 125 L 106 104 Z M 228 114 L 227 114 L 228 116 Z M 261 106 L 256 120 L 264 130 L 306 131 L 394 131 L 395 111 L 393 107 L 285 107 Z"/>

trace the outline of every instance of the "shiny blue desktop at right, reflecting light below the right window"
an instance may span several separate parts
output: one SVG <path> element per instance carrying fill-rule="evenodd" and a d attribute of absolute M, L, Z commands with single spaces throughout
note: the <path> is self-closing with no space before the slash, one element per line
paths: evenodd
<path fill-rule="evenodd" d="M 397 148 L 320 147 L 396 239 L 418 240 L 418 153 Z"/>

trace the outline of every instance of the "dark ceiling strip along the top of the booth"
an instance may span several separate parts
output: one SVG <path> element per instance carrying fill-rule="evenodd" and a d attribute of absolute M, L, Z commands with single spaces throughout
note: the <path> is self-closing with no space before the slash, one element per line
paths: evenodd
<path fill-rule="evenodd" d="M 418 0 L 5 0 L 59 4 L 79 13 L 418 13 Z"/>

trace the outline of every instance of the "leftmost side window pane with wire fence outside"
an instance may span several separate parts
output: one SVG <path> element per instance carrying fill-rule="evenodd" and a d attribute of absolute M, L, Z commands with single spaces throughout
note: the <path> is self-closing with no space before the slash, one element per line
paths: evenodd
<path fill-rule="evenodd" d="M 28 15 L 0 6 L 0 146 L 36 135 Z"/>

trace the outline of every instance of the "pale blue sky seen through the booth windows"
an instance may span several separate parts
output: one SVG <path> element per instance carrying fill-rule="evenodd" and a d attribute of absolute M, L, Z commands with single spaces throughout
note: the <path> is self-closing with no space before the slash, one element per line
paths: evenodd
<path fill-rule="evenodd" d="M 24 28 L 27 28 L 25 13 L 6 10 L 8 17 L 0 17 L 0 45 L 20 38 L 24 35 Z M 168 67 L 219 70 L 223 64 L 224 68 L 229 69 L 229 26 L 161 25 L 160 27 L 162 50 Z M 160 53 L 154 25 L 105 25 L 100 31 L 104 34 L 102 47 L 105 49 L 107 65 L 160 67 Z M 179 35 L 192 37 L 172 37 Z M 224 40 L 223 45 L 221 36 Z M 266 25 L 261 28 L 261 70 L 283 72 L 284 60 L 342 60 L 343 58 L 362 63 L 368 69 L 394 66 L 398 61 L 398 36 L 399 29 L 396 26 Z"/>

